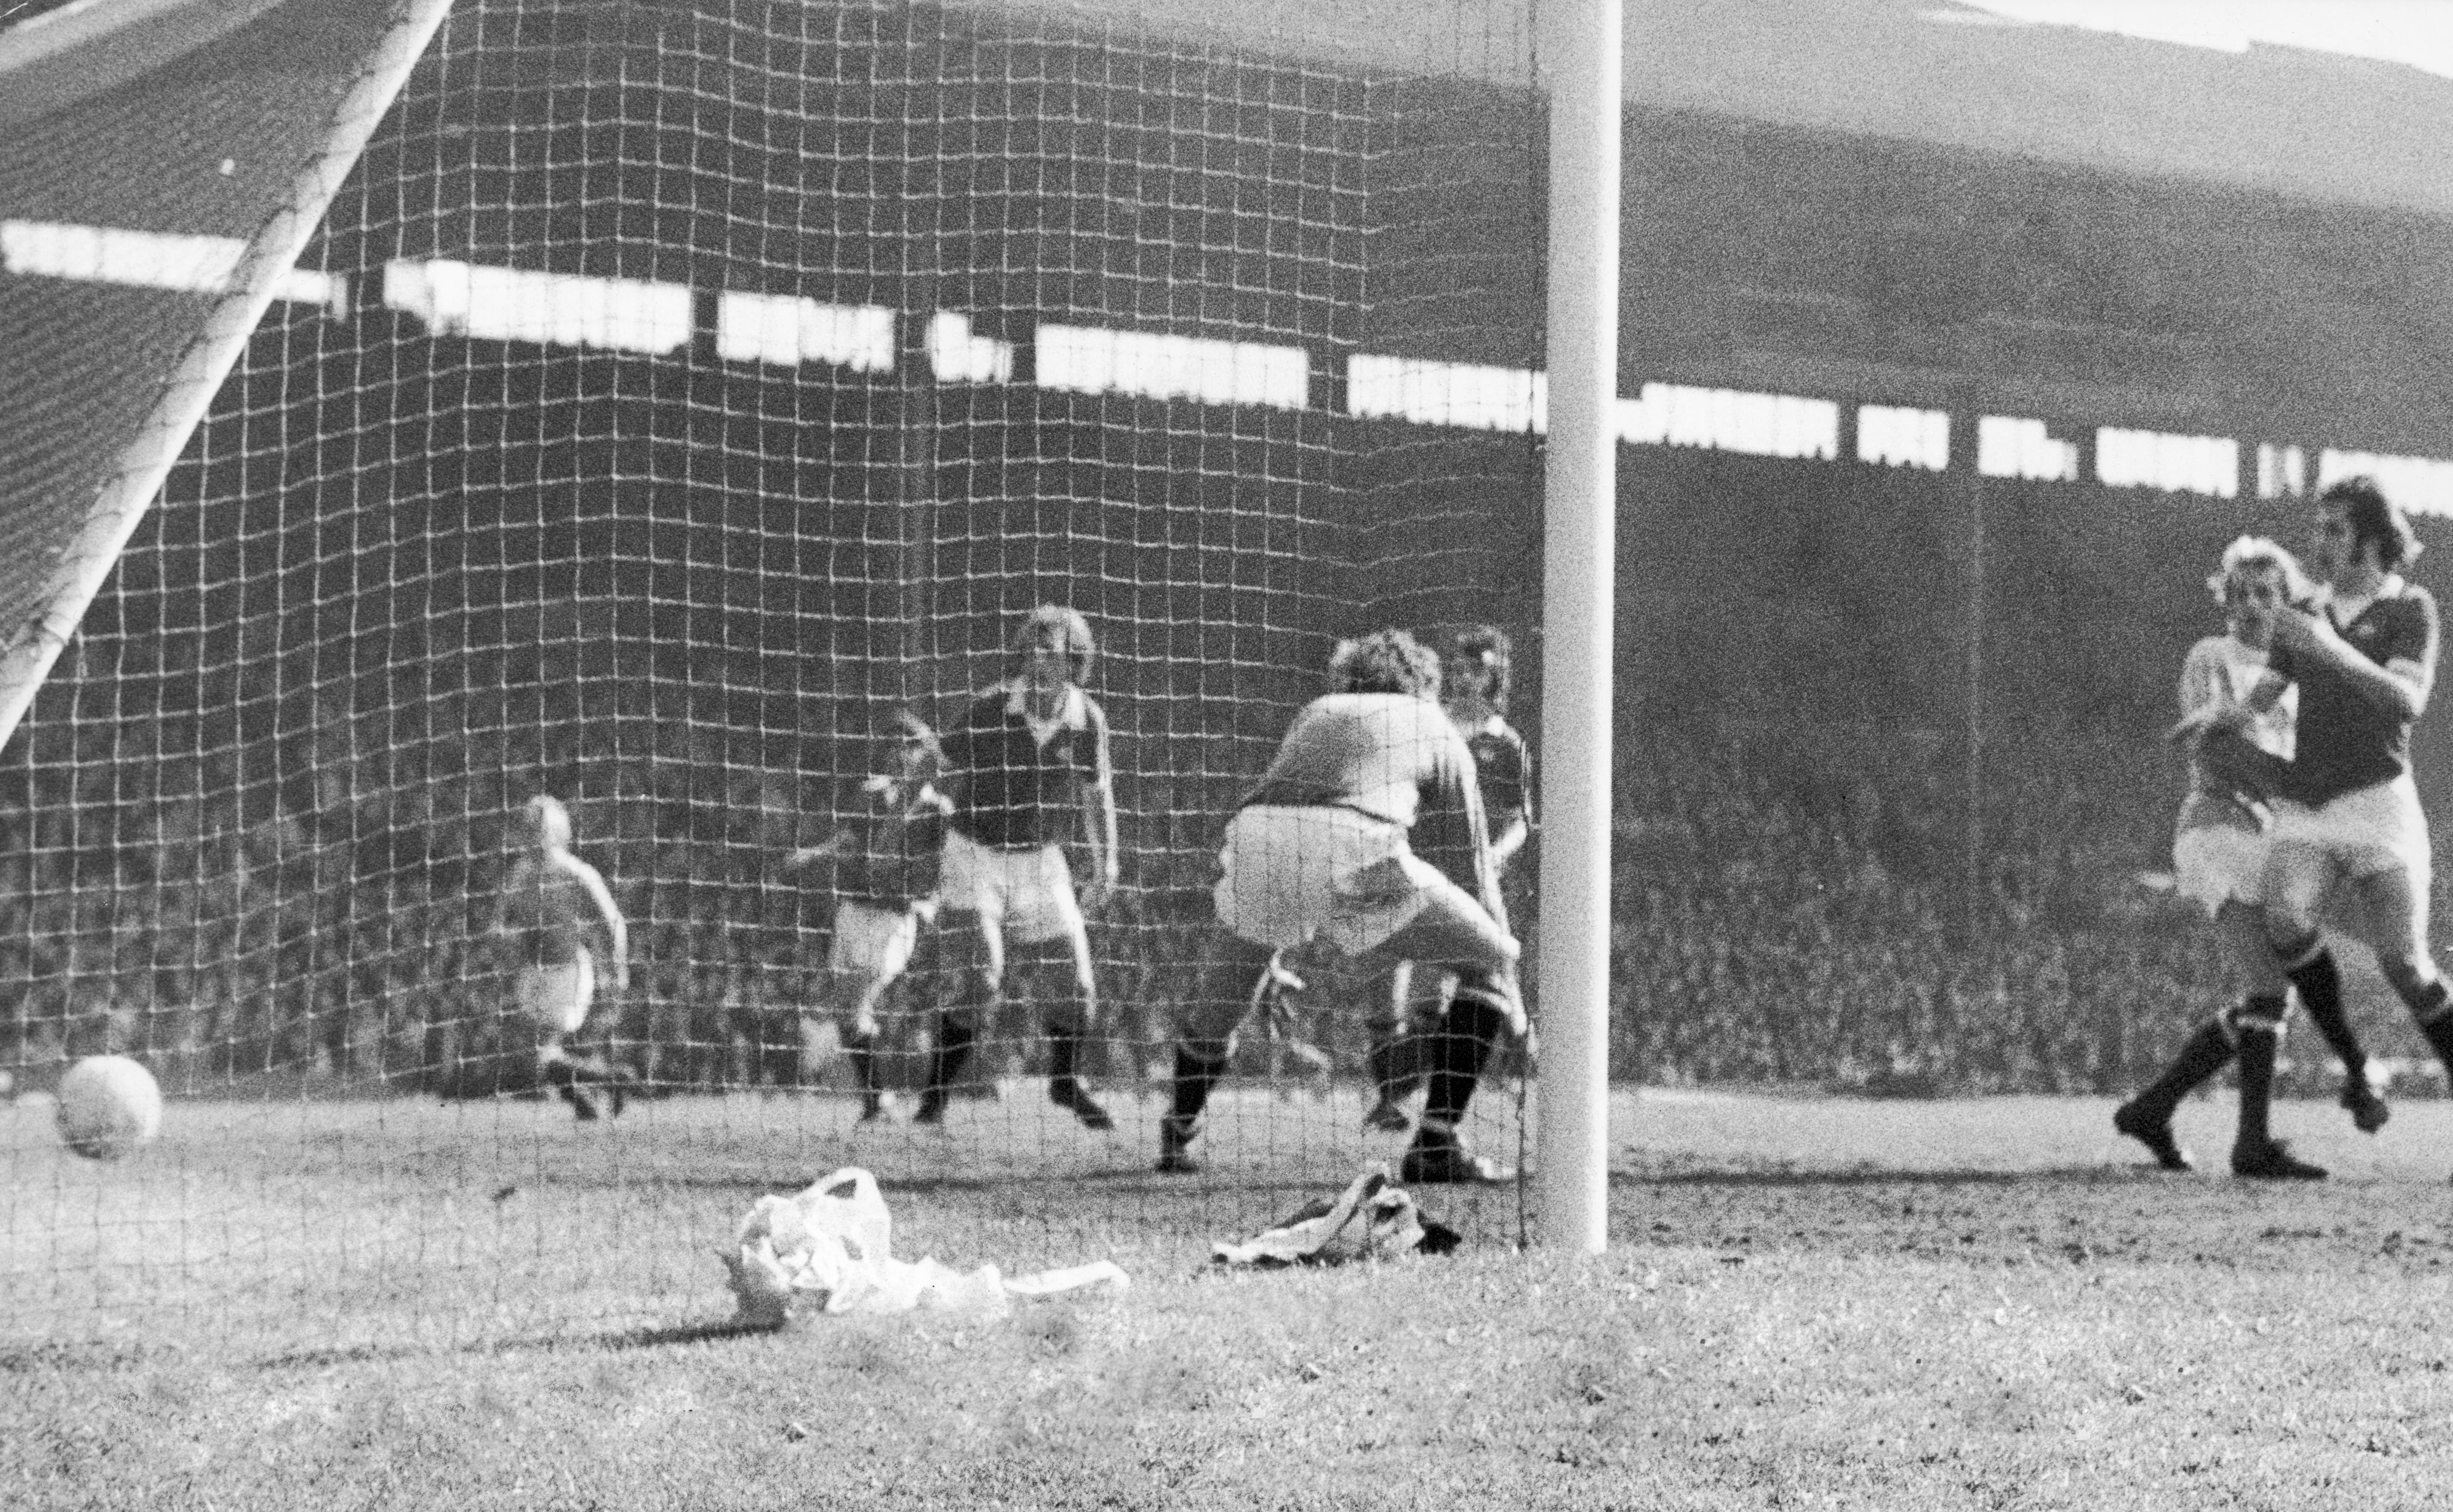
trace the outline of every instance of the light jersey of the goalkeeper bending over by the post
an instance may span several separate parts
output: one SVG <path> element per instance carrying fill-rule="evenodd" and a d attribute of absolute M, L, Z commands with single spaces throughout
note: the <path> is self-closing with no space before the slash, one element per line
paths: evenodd
<path fill-rule="evenodd" d="M 1330 694 L 1295 716 L 1244 809 L 1354 809 L 1410 831 L 1413 853 L 1499 907 L 1474 752 L 1437 703 Z"/>

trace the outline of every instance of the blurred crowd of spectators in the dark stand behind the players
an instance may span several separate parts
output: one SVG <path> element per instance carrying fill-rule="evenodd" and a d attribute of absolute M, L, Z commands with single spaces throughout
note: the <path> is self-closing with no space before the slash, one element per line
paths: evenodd
<path fill-rule="evenodd" d="M 231 762 L 162 760 L 140 782 L 103 752 L 44 750 L 54 760 L 0 787 L 0 1066 L 20 1083 L 118 1049 L 186 1091 L 255 1076 L 520 1086 L 488 931 L 505 818 L 547 787 L 535 767 L 471 777 L 461 752 L 380 801 L 289 809 Z M 834 784 L 706 782 L 689 755 L 562 752 L 552 787 L 633 921 L 633 990 L 591 1034 L 662 1088 L 819 1078 L 797 1010 L 817 1002 L 832 904 L 778 860 L 832 828 Z M 1626 740 L 1612 1076 L 2129 1088 L 2230 995 L 2213 934 L 2156 890 L 2168 762 L 2151 740 L 1992 733 L 1970 843 L 1967 752 L 1948 735 L 1722 725 Z M 1136 804 L 1126 782 L 1126 887 L 1094 924 L 1106 1076 L 1155 1073 L 1173 1041 L 1207 929 L 1207 823 L 1182 794 Z M 1332 958 L 1303 968 L 1295 1034 L 1359 1073 L 1364 983 Z M 922 946 L 893 1032 L 905 1056 L 935 990 Z M 1008 1015 L 991 1071 L 1025 1068 L 1028 1005 Z M 2392 1056 L 2401 1015 L 2362 1012 L 2362 1032 Z M 1283 1056 L 1256 1034 L 1244 1068 L 1266 1066 Z M 2328 1071 L 2298 1076 L 2323 1086 Z"/>

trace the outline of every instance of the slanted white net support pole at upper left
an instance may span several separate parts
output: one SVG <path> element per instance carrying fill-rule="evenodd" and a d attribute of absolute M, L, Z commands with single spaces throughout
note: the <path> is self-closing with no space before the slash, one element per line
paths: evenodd
<path fill-rule="evenodd" d="M 34 615 L 0 647 L 0 745 L 17 733 L 34 694 L 59 662 L 93 595 L 103 591 L 120 551 L 145 520 L 162 480 L 169 478 L 186 439 L 213 407 L 221 380 L 238 365 L 248 336 L 262 323 L 282 279 L 297 267 L 307 243 L 324 225 L 324 211 L 358 164 L 368 137 L 410 81 L 434 32 L 451 15 L 451 0 L 392 0 L 383 42 L 368 54 L 346 96 L 334 105 L 324 149 L 289 184 L 289 201 L 265 221 L 231 270 L 228 292 L 204 319 L 196 341 L 162 382 L 162 397 L 137 426 L 110 473 L 93 493 L 83 524 L 59 556 L 52 586 Z"/>

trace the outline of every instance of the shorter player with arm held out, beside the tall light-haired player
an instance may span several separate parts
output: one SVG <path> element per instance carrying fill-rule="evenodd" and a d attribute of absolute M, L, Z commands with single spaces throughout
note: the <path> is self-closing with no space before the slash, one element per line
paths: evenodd
<path fill-rule="evenodd" d="M 861 1083 L 861 1122 L 886 1117 L 878 1086 L 878 1005 L 913 963 L 920 926 L 937 917 L 937 855 L 954 804 L 937 792 L 944 750 L 927 720 L 895 711 L 895 769 L 861 782 L 861 811 L 817 845 L 785 858 L 785 870 L 832 860 L 834 941 L 827 992 L 844 1056 Z"/>

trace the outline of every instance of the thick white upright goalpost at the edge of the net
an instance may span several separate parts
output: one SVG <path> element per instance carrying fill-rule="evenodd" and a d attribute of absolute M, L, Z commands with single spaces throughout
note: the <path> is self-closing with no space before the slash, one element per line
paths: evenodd
<path fill-rule="evenodd" d="M 1545 0 L 1550 287 L 1540 659 L 1536 1242 L 1609 1242 L 1609 720 L 1619 397 L 1619 0 Z"/>

